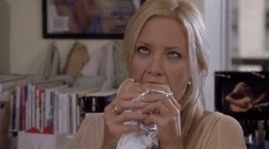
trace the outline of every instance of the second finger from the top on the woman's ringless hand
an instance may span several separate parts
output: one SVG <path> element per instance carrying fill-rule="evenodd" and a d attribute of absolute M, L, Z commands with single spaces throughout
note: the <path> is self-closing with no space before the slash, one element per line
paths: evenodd
<path fill-rule="evenodd" d="M 141 113 L 147 114 L 151 111 L 158 111 L 162 117 L 166 117 L 171 115 L 170 111 L 168 108 L 164 105 L 162 101 L 156 101 L 153 103 L 149 103 L 146 107 L 142 108 Z"/>

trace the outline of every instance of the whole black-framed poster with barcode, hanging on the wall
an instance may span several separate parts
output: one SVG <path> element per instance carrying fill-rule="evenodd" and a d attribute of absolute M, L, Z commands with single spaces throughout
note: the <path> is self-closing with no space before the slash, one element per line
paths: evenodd
<path fill-rule="evenodd" d="M 145 0 L 42 0 L 43 38 L 123 39 Z"/>

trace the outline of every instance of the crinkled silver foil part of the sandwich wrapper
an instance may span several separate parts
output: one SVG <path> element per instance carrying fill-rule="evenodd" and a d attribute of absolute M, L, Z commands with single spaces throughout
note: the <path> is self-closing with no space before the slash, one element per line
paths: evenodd
<path fill-rule="evenodd" d="M 162 93 L 164 94 L 168 99 L 173 95 L 172 92 L 166 92 L 166 91 L 159 91 L 159 90 L 148 90 L 145 91 L 144 93 L 140 94 L 138 98 L 133 99 L 132 101 L 141 101 L 141 98 L 147 94 L 156 94 L 156 93 Z M 140 112 L 140 110 L 133 110 L 133 112 Z M 151 111 L 150 114 L 159 114 L 158 111 Z M 144 135 L 147 135 L 148 137 L 151 138 L 156 138 L 156 142 L 154 142 L 155 145 L 158 146 L 158 138 L 157 138 L 157 133 L 158 133 L 158 127 L 156 124 L 151 123 L 148 126 L 144 126 L 144 123 L 142 121 L 138 122 L 138 126 L 142 129 L 142 132 Z"/>

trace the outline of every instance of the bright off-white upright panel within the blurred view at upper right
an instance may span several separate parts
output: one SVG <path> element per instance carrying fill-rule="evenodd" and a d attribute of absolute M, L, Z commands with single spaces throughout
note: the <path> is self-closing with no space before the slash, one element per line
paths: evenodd
<path fill-rule="evenodd" d="M 265 57 L 266 48 L 265 10 L 266 0 L 238 1 L 239 57 Z"/>

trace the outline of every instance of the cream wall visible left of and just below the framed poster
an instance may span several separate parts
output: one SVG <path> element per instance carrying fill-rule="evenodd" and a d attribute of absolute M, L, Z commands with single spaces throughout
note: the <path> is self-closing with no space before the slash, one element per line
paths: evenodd
<path fill-rule="evenodd" d="M 42 0 L 8 0 L 11 6 L 10 72 L 27 73 L 32 60 L 52 40 L 42 38 Z M 62 61 L 75 40 L 55 40 Z M 91 51 L 109 40 L 80 40 Z"/>

